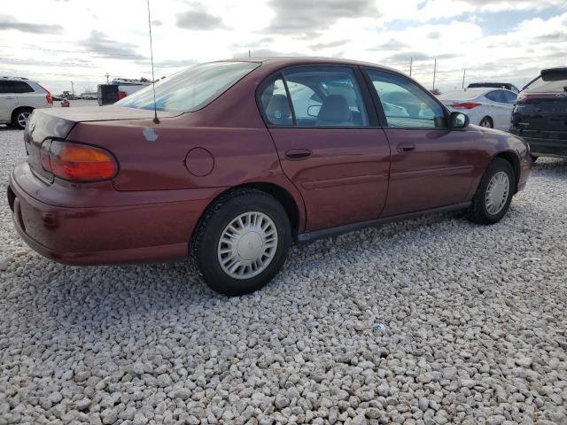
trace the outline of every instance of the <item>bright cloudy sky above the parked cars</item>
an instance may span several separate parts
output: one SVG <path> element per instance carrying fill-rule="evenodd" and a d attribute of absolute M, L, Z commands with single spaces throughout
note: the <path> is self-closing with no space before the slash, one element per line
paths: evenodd
<path fill-rule="evenodd" d="M 151 78 L 146 0 L 2 0 L 0 75 L 53 93 Z M 25 4 L 25 6 L 22 6 Z M 565 0 L 150 0 L 156 78 L 196 63 L 324 56 L 392 66 L 441 91 L 518 87 L 567 65 Z M 521 88 L 521 87 L 520 87 Z"/>

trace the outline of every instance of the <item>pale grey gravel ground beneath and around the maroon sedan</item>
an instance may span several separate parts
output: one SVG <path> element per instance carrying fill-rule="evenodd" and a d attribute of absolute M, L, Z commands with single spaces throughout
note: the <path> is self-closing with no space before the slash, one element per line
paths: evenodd
<path fill-rule="evenodd" d="M 21 139 L 0 128 L 3 193 Z M 242 298 L 184 262 L 50 262 L 0 206 L 0 423 L 567 423 L 565 160 L 497 225 L 296 245 Z"/>

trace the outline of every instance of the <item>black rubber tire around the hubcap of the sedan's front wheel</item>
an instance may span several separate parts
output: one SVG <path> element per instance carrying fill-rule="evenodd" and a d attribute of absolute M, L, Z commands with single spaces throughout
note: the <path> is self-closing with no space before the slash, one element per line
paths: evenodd
<path fill-rule="evenodd" d="M 491 214 L 486 209 L 486 189 L 488 183 L 492 180 L 494 174 L 504 172 L 508 174 L 509 178 L 509 191 L 506 203 L 503 205 L 501 211 Z M 485 174 L 483 174 L 480 184 L 478 185 L 477 193 L 472 198 L 472 204 L 467 212 L 467 218 L 478 224 L 494 224 L 504 217 L 508 212 L 512 197 L 516 193 L 516 174 L 512 165 L 503 158 L 494 158 L 493 161 L 486 167 Z"/>

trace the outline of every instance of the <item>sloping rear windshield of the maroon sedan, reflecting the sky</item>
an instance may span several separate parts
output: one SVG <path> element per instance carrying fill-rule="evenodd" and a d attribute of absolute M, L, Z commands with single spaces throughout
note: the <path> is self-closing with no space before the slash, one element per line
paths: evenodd
<path fill-rule="evenodd" d="M 260 66 L 254 62 L 211 62 L 191 66 L 156 82 L 158 111 L 192 112 L 203 108 L 238 80 Z M 124 97 L 116 105 L 153 109 L 151 85 Z"/>

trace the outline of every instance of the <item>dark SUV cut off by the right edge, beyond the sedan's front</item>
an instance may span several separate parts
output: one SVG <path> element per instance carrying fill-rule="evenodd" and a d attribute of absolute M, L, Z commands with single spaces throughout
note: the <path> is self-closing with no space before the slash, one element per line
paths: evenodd
<path fill-rule="evenodd" d="M 530 144 L 532 158 L 567 158 L 567 67 L 544 69 L 517 97 L 510 132 Z"/>

